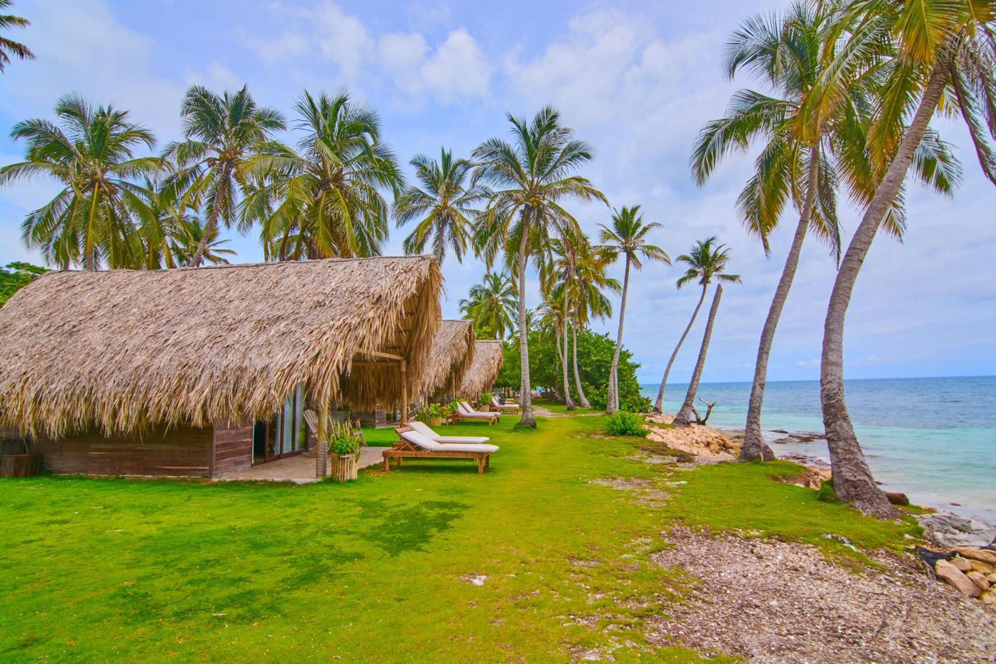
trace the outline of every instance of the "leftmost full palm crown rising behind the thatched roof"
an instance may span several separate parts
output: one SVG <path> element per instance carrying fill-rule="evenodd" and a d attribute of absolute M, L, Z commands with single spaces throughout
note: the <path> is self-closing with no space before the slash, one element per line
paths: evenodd
<path fill-rule="evenodd" d="M 14 125 L 11 139 L 28 142 L 25 161 L 0 168 L 0 184 L 48 175 L 64 185 L 25 218 L 25 243 L 62 269 L 79 263 L 88 270 L 105 263 L 140 263 L 130 209 L 141 203 L 130 178 L 158 169 L 158 160 L 134 156 L 135 148 L 151 149 L 155 139 L 131 123 L 126 111 L 95 109 L 76 95 L 56 103 L 56 116 L 58 125 L 38 119 Z"/>

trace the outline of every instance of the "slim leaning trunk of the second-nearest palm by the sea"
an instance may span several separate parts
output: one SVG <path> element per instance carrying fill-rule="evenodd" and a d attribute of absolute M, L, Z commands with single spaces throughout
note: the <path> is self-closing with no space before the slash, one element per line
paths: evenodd
<path fill-rule="evenodd" d="M 778 287 L 775 288 L 775 296 L 771 300 L 771 307 L 768 309 L 768 317 L 764 321 L 764 328 L 761 330 L 761 343 L 757 347 L 757 361 L 754 363 L 754 383 L 750 388 L 750 401 L 747 406 L 747 424 L 744 428 L 744 443 L 740 448 L 740 461 L 771 461 L 774 455 L 764 443 L 764 436 L 761 435 L 761 407 L 764 405 L 764 388 L 768 379 L 768 358 L 771 355 L 771 346 L 775 341 L 775 330 L 778 328 L 778 320 L 782 316 L 782 309 L 785 301 L 789 297 L 789 290 L 792 288 L 792 281 L 796 277 L 796 268 L 799 267 L 799 255 L 802 253 L 803 240 L 806 239 L 806 231 L 809 228 L 810 218 L 813 215 L 813 204 L 816 201 L 816 190 L 820 177 L 820 148 L 814 146 L 810 149 L 810 167 L 806 183 L 806 199 L 803 201 L 802 213 L 799 215 L 799 225 L 796 226 L 796 235 L 792 238 L 792 246 L 789 248 L 789 255 L 785 259 L 785 267 L 782 269 L 782 276 L 778 279 Z"/>

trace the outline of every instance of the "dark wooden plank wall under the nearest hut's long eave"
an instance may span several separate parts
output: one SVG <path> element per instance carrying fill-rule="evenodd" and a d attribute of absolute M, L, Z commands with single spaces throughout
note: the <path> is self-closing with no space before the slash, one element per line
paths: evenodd
<path fill-rule="evenodd" d="M 36 441 L 55 473 L 210 477 L 210 427 L 172 427 L 141 436 L 107 437 L 98 430 Z"/>

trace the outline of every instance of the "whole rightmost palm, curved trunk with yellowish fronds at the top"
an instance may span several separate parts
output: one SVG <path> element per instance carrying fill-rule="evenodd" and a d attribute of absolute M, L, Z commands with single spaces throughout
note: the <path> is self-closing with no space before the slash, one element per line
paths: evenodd
<path fill-rule="evenodd" d="M 894 44 L 895 55 L 871 127 L 871 159 L 886 166 L 841 260 L 824 323 L 820 400 L 837 495 L 862 511 L 892 511 L 875 485 L 844 395 L 844 320 L 871 241 L 917 157 L 935 113 L 965 120 L 983 172 L 996 182 L 996 61 L 991 0 L 921 3 L 859 0 L 849 7 L 842 32 L 847 46 L 834 65 L 856 54 Z M 953 94 L 947 94 L 953 93 Z M 915 111 L 914 111 L 915 109 Z M 911 117 L 908 128 L 904 119 Z"/>

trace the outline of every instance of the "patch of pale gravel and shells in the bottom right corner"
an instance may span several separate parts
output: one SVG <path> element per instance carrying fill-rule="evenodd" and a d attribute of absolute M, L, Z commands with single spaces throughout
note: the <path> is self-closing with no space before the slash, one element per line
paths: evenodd
<path fill-rule="evenodd" d="M 655 554 L 700 580 L 647 640 L 756 662 L 996 662 L 996 612 L 881 553 L 854 573 L 814 546 L 687 528 Z"/>

